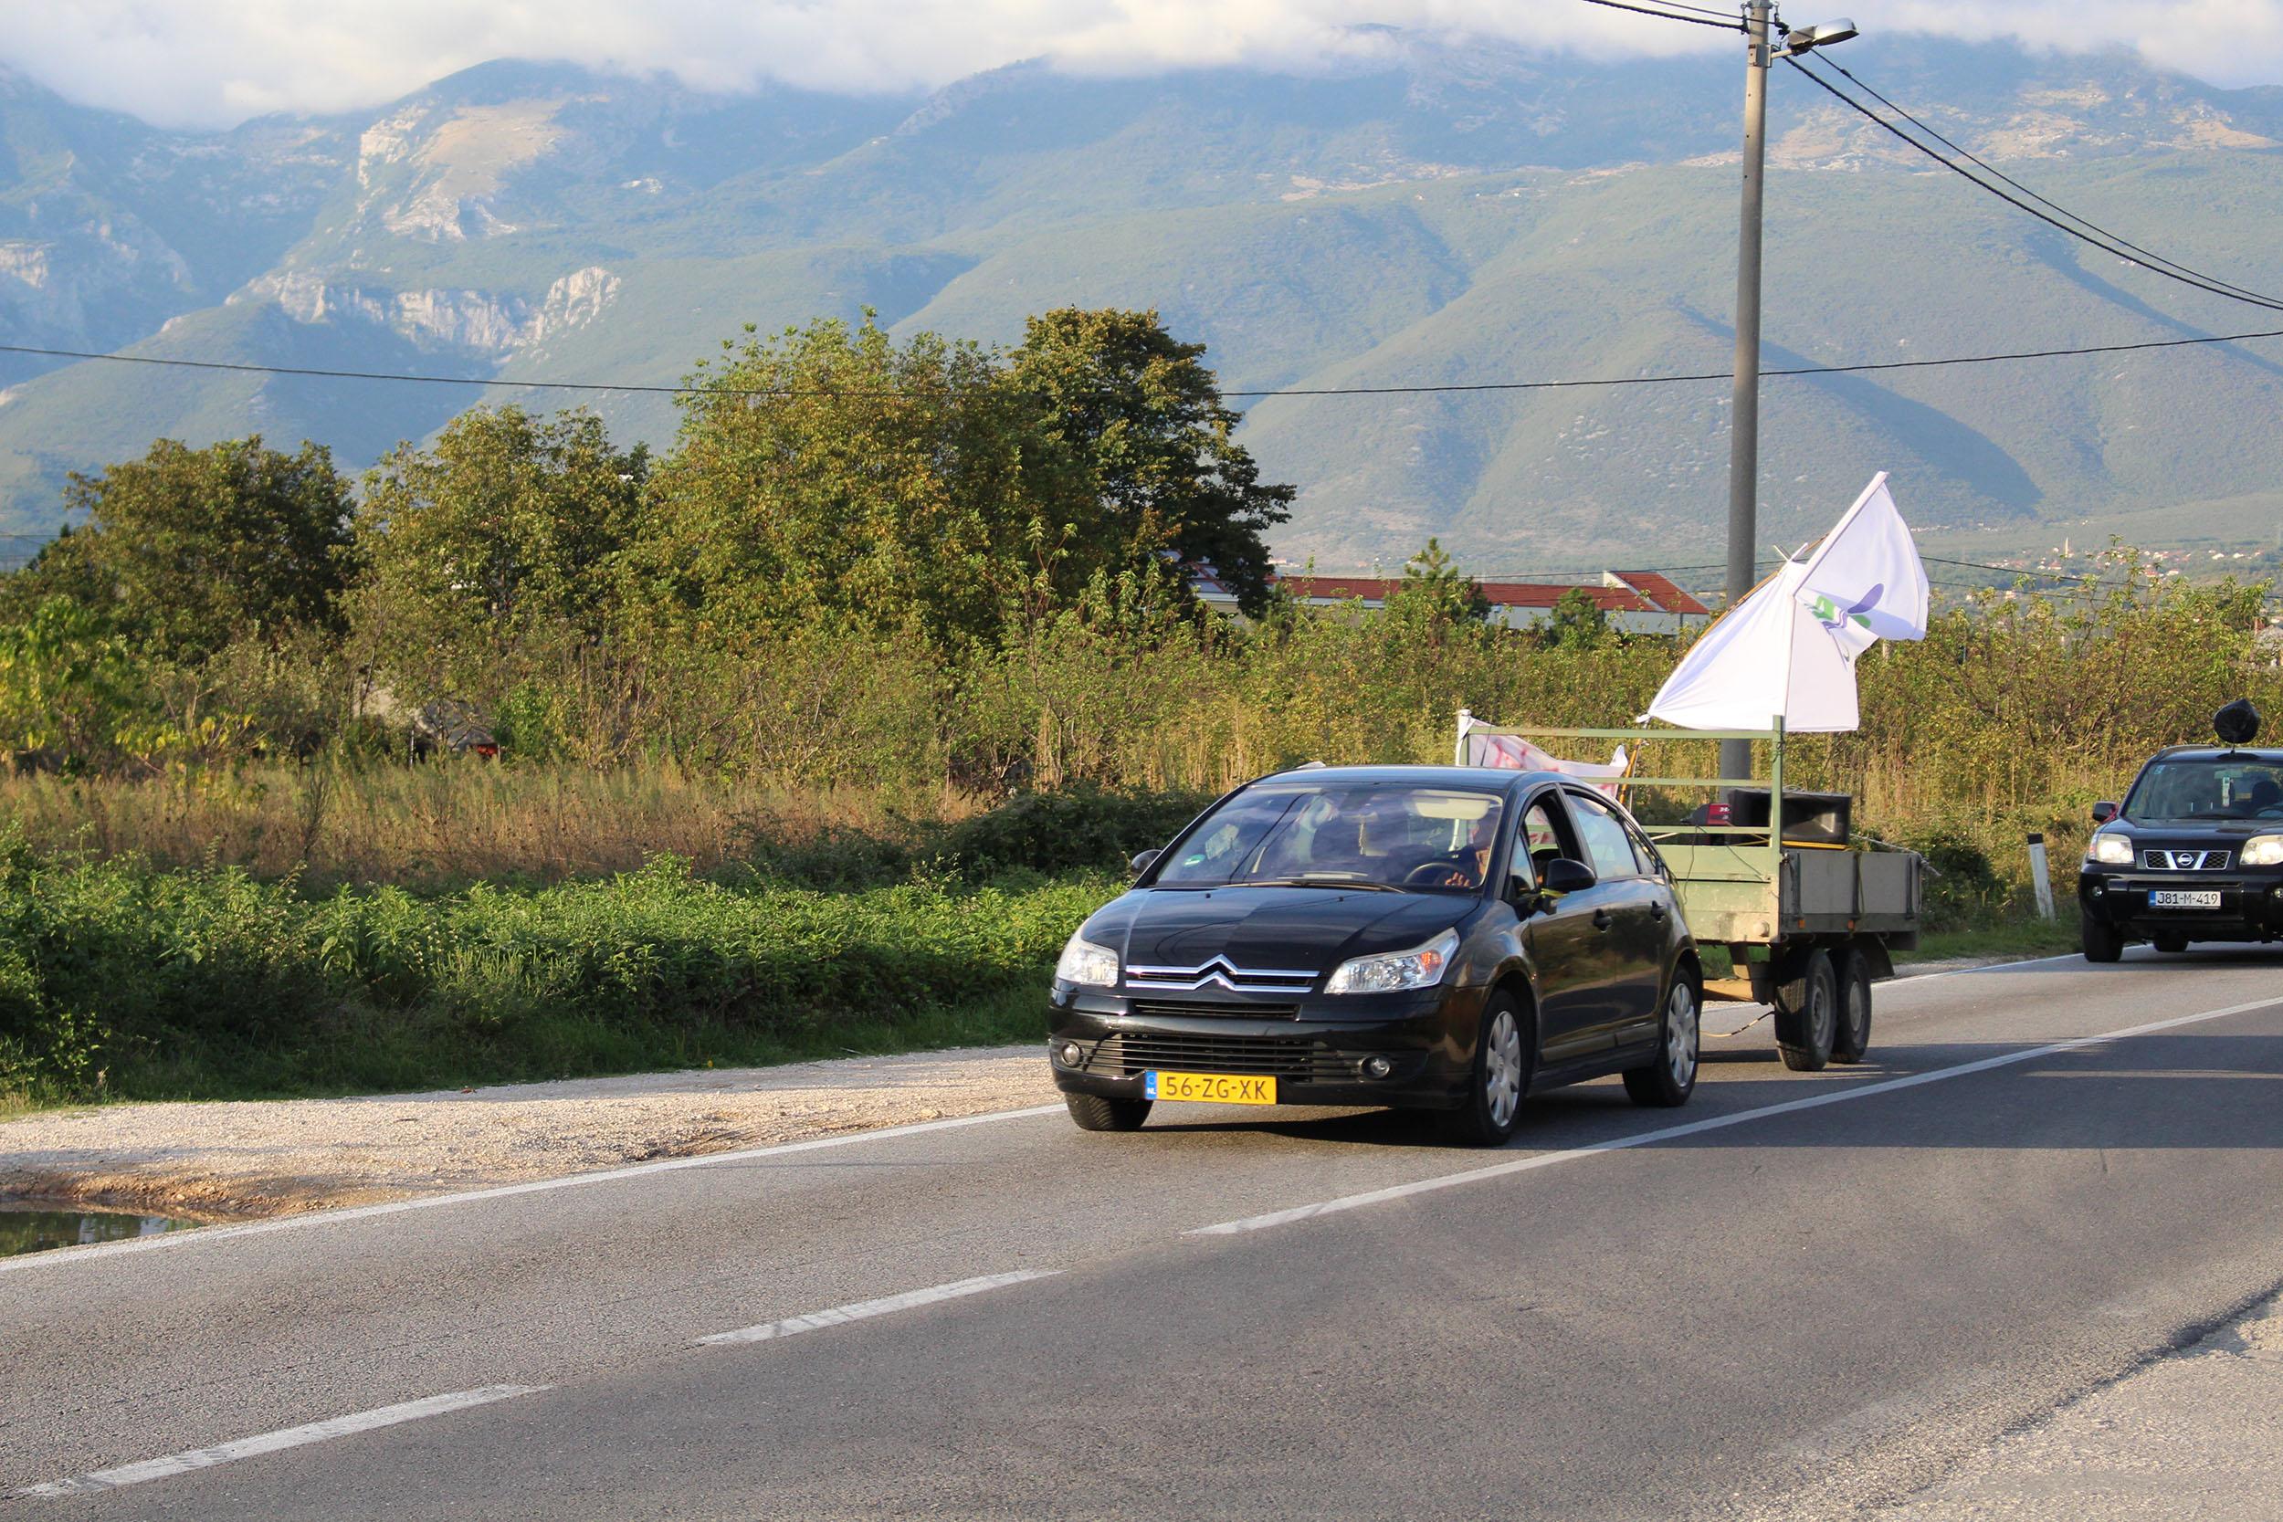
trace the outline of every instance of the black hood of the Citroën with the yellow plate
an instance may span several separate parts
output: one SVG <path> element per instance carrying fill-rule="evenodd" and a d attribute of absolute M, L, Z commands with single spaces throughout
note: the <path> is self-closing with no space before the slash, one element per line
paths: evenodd
<path fill-rule="evenodd" d="M 1466 920 L 1479 901 L 1336 888 L 1139 888 L 1087 922 L 1087 940 L 1126 965 L 1326 972 L 1349 956 L 1404 952 Z"/>

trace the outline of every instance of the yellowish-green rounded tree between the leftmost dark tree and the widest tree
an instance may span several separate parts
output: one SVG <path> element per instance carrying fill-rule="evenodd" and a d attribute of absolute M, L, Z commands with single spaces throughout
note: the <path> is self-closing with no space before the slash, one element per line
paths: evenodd
<path fill-rule="evenodd" d="M 427 450 L 397 445 L 356 520 L 361 643 L 429 696 L 493 698 L 534 646 L 600 637 L 648 475 L 594 413 L 475 408 Z"/>

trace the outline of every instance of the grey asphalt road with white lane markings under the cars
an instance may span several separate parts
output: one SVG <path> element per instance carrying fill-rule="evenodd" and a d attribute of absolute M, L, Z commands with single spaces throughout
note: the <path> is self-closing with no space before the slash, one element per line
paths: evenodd
<path fill-rule="evenodd" d="M 2283 1282 L 2278 954 L 1708 1045 L 1500 1152 L 1057 1109 L 5 1260 L 0 1513 L 1831 1517 Z"/>

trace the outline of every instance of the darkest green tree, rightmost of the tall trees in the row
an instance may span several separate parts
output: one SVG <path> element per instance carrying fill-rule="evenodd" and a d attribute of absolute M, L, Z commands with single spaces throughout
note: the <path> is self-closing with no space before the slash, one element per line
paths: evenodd
<path fill-rule="evenodd" d="M 1025 326 L 1009 386 L 1082 470 L 1082 497 L 1062 518 L 1073 559 L 1112 570 L 1164 554 L 1205 561 L 1260 614 L 1262 536 L 1290 518 L 1292 488 L 1260 481 L 1203 354 L 1153 310 L 1059 308 Z"/>

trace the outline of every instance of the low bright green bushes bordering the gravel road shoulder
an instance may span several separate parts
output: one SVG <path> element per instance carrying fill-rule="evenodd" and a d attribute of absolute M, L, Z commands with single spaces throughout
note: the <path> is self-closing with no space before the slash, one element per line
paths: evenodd
<path fill-rule="evenodd" d="M 1112 879 L 306 899 L 132 858 L 0 872 L 0 1093 L 210 1098 L 607 1072 L 1039 990 Z M 75 1011 L 98 1011 L 100 1027 Z"/>

